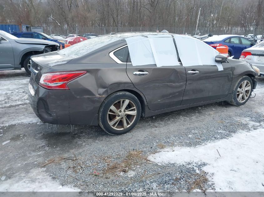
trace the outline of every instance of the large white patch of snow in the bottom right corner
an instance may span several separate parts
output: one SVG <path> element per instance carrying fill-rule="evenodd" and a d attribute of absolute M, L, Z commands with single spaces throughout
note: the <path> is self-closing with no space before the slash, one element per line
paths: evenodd
<path fill-rule="evenodd" d="M 264 128 L 259 128 L 204 146 L 167 148 L 148 159 L 159 165 L 206 162 L 203 170 L 211 174 L 216 191 L 264 191 L 263 141 Z"/>

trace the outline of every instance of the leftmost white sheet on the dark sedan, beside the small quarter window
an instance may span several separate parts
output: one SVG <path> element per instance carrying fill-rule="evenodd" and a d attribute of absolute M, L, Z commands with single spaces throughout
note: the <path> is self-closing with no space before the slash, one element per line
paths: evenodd
<path fill-rule="evenodd" d="M 148 38 L 134 36 L 125 40 L 133 66 L 156 64 Z"/>

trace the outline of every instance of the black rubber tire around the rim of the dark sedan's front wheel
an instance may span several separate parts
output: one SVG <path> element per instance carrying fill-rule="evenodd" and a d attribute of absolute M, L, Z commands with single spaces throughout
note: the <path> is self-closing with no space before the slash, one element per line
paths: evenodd
<path fill-rule="evenodd" d="M 244 81 L 248 81 L 250 82 L 250 85 L 251 85 L 251 89 L 249 91 L 249 94 L 248 94 L 248 97 L 246 100 L 244 100 L 243 102 L 239 102 L 238 99 L 237 99 L 237 91 L 238 91 L 238 88 L 239 86 L 241 85 L 242 82 Z M 253 87 L 253 84 L 252 84 L 252 79 L 248 76 L 243 76 L 236 84 L 234 90 L 233 90 L 233 95 L 232 95 L 232 98 L 231 98 L 231 101 L 229 102 L 230 104 L 232 105 L 235 105 L 235 106 L 242 106 L 244 105 L 248 99 L 250 98 L 251 96 L 251 93 L 252 93 L 252 87 Z"/>

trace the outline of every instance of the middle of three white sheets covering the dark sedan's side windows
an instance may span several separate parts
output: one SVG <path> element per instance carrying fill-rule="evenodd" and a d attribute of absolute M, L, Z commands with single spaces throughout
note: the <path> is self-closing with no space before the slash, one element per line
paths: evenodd
<path fill-rule="evenodd" d="M 171 36 L 152 37 L 149 38 L 149 42 L 157 67 L 180 65 L 173 38 Z"/>

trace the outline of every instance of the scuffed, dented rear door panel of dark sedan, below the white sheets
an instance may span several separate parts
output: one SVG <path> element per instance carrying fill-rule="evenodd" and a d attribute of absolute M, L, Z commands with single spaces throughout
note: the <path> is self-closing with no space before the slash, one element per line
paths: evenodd
<path fill-rule="evenodd" d="M 134 86 L 146 97 L 150 110 L 179 106 L 186 86 L 185 68 L 156 64 L 133 66 L 128 58 L 127 75 Z M 137 75 L 134 72 L 148 74 Z"/>

